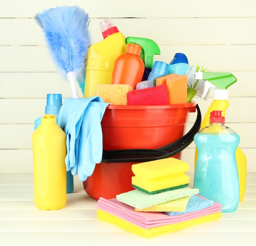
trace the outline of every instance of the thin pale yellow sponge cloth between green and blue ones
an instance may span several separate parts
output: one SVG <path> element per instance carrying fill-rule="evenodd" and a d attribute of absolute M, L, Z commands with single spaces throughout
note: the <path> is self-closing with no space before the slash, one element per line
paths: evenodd
<path fill-rule="evenodd" d="M 190 196 L 164 202 L 148 208 L 135 208 L 139 212 L 184 212 Z"/>

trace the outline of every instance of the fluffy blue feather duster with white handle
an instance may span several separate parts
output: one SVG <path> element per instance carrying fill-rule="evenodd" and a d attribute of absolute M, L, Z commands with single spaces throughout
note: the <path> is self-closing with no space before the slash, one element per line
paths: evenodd
<path fill-rule="evenodd" d="M 54 63 L 70 82 L 73 98 L 79 98 L 76 80 L 84 78 L 90 46 L 88 13 L 76 6 L 61 6 L 38 13 L 34 19 L 44 31 Z M 79 86 L 83 92 L 81 79 Z"/>

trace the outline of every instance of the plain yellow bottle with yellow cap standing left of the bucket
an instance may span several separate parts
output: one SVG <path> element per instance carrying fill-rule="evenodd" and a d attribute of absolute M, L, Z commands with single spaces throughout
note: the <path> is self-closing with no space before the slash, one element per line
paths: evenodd
<path fill-rule="evenodd" d="M 67 201 L 66 134 L 52 114 L 45 114 L 32 134 L 34 203 L 41 210 L 63 208 Z"/>

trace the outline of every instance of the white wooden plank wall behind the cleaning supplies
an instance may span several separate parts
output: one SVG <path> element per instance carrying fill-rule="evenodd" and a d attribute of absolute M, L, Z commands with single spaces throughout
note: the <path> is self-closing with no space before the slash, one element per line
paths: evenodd
<path fill-rule="evenodd" d="M 241 138 L 248 172 L 256 172 L 256 1 L 255 0 L 5 0 L 0 5 L 0 173 L 32 173 L 34 120 L 44 113 L 47 93 L 71 97 L 56 72 L 43 33 L 33 17 L 55 6 L 78 5 L 90 14 L 92 43 L 102 40 L 99 22 L 112 18 L 125 36 L 150 38 L 169 63 L 177 52 L 190 65 L 231 72 L 227 126 Z M 82 95 L 82 94 L 81 94 Z M 195 98 L 204 116 L 211 104 Z M 195 120 L 191 113 L 187 130 Z M 195 145 L 182 160 L 193 172 Z"/>

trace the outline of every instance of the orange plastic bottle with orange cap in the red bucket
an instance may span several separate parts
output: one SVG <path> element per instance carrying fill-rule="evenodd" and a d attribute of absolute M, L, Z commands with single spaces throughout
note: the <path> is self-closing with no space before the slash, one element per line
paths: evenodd
<path fill-rule="evenodd" d="M 136 84 L 141 82 L 144 73 L 144 62 L 139 57 L 141 46 L 127 44 L 126 53 L 120 55 L 114 65 L 111 84 L 129 84 L 136 89 Z"/>

